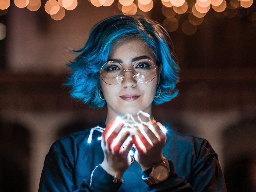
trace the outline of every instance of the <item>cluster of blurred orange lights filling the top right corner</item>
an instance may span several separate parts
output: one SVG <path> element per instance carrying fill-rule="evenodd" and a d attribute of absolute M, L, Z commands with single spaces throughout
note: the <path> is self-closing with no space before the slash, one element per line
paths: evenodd
<path fill-rule="evenodd" d="M 253 0 L 161 0 L 163 25 L 173 32 L 181 26 L 184 34 L 193 35 L 204 21 L 205 15 L 212 8 L 218 18 L 247 17 L 256 26 L 256 6 Z M 247 9 L 245 9 L 247 8 Z M 182 21 L 179 21 L 184 14 Z M 185 18 L 185 19 L 184 19 Z"/>

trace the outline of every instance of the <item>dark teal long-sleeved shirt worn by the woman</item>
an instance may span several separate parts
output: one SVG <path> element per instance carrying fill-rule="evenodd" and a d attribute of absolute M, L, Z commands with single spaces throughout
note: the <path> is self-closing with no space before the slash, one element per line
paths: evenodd
<path fill-rule="evenodd" d="M 209 142 L 194 136 L 168 130 L 163 155 L 170 164 L 167 180 L 148 186 L 142 180 L 143 172 L 134 161 L 123 175 L 123 184 L 113 182 L 111 175 L 98 166 L 104 159 L 100 132 L 90 129 L 72 133 L 53 143 L 46 155 L 39 191 L 226 191 L 224 176 L 217 154 Z M 91 181 L 91 185 L 90 185 Z"/>

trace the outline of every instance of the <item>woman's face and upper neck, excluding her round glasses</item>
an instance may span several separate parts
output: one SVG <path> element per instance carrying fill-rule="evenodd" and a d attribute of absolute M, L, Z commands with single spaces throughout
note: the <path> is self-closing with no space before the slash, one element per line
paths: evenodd
<path fill-rule="evenodd" d="M 138 38 L 127 38 L 113 46 L 109 60 L 118 61 L 123 69 L 132 69 L 138 59 L 149 59 L 155 66 L 155 56 L 146 43 Z M 107 120 L 139 110 L 151 114 L 152 101 L 159 82 L 158 69 L 155 78 L 148 83 L 137 82 L 131 71 L 126 71 L 123 80 L 117 85 L 108 85 L 100 78 L 101 90 L 107 102 Z"/>

